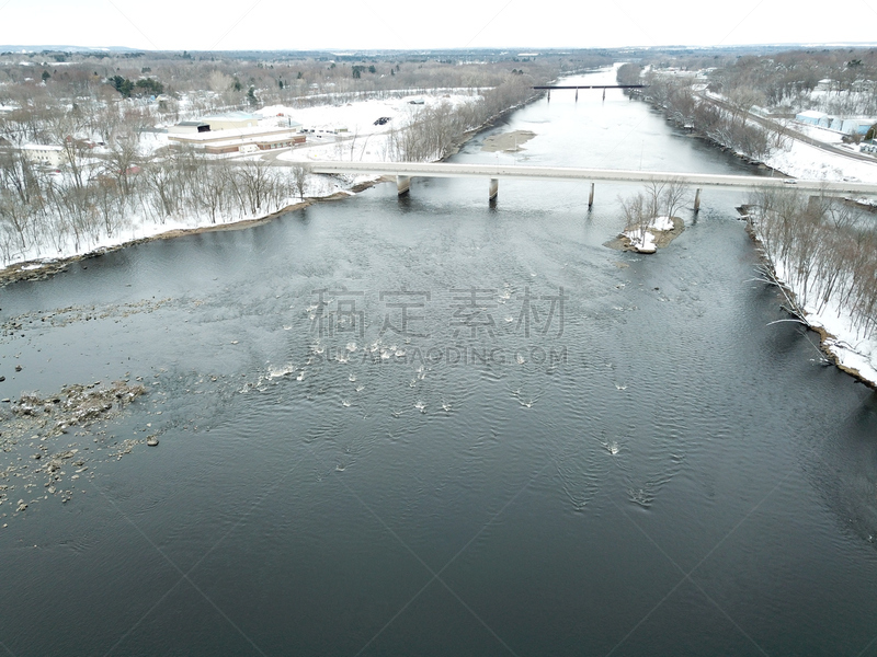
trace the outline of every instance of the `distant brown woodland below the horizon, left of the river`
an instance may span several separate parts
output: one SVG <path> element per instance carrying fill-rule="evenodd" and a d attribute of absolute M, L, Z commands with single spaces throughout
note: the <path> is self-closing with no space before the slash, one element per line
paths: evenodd
<path fill-rule="evenodd" d="M 283 54 L 275 54 L 273 59 L 266 60 L 253 54 L 210 54 L 193 58 L 153 53 L 137 57 L 111 55 L 101 59 L 88 54 L 71 54 L 69 61 L 59 67 L 46 61 L 47 57 L 44 55 L 41 59 L 34 55 L 33 61 L 22 61 L 26 55 L 0 56 L 0 105 L 21 105 L 21 99 L 32 94 L 82 103 L 90 99 L 110 102 L 132 95 L 167 93 L 178 99 L 218 97 L 223 107 L 247 107 L 252 102 L 251 97 L 248 100 L 250 89 L 262 104 L 292 104 L 303 97 L 326 93 L 497 87 L 512 71 L 545 80 L 556 77 L 561 70 L 612 61 L 610 54 L 546 54 L 520 69 L 522 65 L 511 59 L 440 61 L 406 54 L 396 58 L 340 58 L 333 61 L 301 56 L 293 59 Z M 45 76 L 35 76 L 35 70 L 45 72 Z"/>

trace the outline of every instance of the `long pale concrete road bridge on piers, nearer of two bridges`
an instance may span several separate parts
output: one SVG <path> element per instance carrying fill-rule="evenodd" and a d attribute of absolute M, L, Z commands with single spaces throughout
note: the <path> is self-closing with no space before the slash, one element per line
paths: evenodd
<path fill-rule="evenodd" d="M 594 204 L 596 182 L 613 183 L 679 183 L 695 187 L 695 211 L 701 208 L 701 189 L 726 187 L 730 189 L 800 189 L 825 195 L 877 195 L 877 184 L 806 181 L 796 178 L 763 177 L 755 175 L 717 175 L 708 173 L 681 173 L 674 171 L 625 171 L 619 169 L 573 169 L 561 166 L 519 166 L 497 164 L 457 164 L 454 162 L 311 162 L 314 173 L 371 174 L 396 177 L 399 195 L 411 188 L 412 177 L 478 177 L 490 181 L 488 198 L 499 194 L 500 178 L 523 181 L 590 182 L 588 207 Z"/>

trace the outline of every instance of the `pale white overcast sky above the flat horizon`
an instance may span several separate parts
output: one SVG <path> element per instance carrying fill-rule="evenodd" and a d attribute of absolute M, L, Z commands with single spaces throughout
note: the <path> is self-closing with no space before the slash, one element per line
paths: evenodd
<path fill-rule="evenodd" d="M 875 43 L 877 0 L 0 0 L 0 44 L 143 49 Z"/>

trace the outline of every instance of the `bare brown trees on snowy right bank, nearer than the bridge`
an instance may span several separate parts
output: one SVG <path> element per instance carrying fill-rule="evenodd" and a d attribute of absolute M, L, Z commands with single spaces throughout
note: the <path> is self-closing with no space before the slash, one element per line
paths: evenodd
<path fill-rule="evenodd" d="M 861 211 L 842 199 L 793 189 L 754 194 L 750 217 L 774 283 L 785 281 L 796 298 L 790 310 L 832 310 L 850 318 L 859 337 L 877 332 L 877 232 Z"/>

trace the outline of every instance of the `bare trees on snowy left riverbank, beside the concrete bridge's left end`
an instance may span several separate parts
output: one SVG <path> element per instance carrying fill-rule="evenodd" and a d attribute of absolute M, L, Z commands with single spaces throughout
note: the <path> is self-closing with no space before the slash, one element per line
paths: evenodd
<path fill-rule="evenodd" d="M 0 265 L 81 252 L 141 222 L 255 217 L 304 196 L 301 175 L 261 161 L 207 160 L 191 150 L 119 170 L 103 161 L 69 174 L 39 172 L 20 151 L 0 153 Z M 206 222 L 206 221 L 204 221 Z"/>

